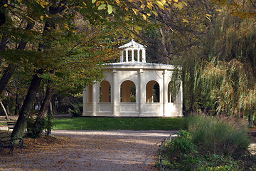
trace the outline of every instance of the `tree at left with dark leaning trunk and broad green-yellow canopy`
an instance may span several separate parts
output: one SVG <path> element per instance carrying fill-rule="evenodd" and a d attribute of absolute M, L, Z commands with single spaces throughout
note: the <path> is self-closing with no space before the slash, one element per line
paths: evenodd
<path fill-rule="evenodd" d="M 21 137 L 31 113 L 31 106 L 36 98 L 33 95 L 36 94 L 42 78 L 46 80 L 54 78 L 56 81 L 60 80 L 61 77 L 64 78 L 63 80 L 67 78 L 67 81 L 73 80 L 73 88 L 82 88 L 82 86 L 92 83 L 93 80 L 102 78 L 102 72 L 98 65 L 102 58 L 97 59 L 100 53 L 92 53 L 93 50 L 101 49 L 102 45 L 97 43 L 97 46 L 92 46 L 88 43 L 89 41 L 86 41 L 87 44 L 83 43 L 85 41 L 77 37 L 80 33 L 75 26 L 75 18 L 81 15 L 85 21 L 95 27 L 103 24 L 104 27 L 124 26 L 124 28 L 129 28 L 133 25 L 133 30 L 139 32 L 142 27 L 137 24 L 145 18 L 145 15 L 138 13 L 138 11 L 139 9 L 149 9 L 150 11 L 154 7 L 153 2 L 155 1 L 148 1 L 143 4 L 144 1 L 137 1 L 134 4 L 132 1 L 30 2 L 12 0 L 4 4 L 9 10 L 7 11 L 9 18 L 6 20 L 6 24 L 9 26 L 1 29 L 1 33 L 2 35 L 4 31 L 8 33 L 10 43 L 6 51 L 1 51 L 1 56 L 4 62 L 23 66 L 33 75 L 17 125 L 11 136 Z M 163 3 L 161 2 L 161 6 L 164 6 Z M 34 28 L 31 30 L 24 29 L 24 25 L 28 25 L 31 21 L 35 22 Z M 33 39 L 30 39 L 31 35 L 33 35 Z M 16 43 L 22 41 L 23 38 L 28 40 L 27 48 L 25 51 L 17 51 Z M 78 39 L 75 40 L 75 38 Z M 73 43 L 63 43 L 67 40 Z M 64 44 L 66 45 L 64 46 Z M 82 49 L 82 46 L 87 48 Z M 79 50 L 80 48 L 82 50 Z M 110 48 L 106 48 L 104 51 L 110 53 Z M 79 56 L 78 54 L 86 55 Z M 78 68 L 82 67 L 82 62 L 90 70 L 80 69 L 79 71 Z M 56 71 L 55 75 L 50 73 L 53 70 Z M 75 73 L 77 77 L 72 76 L 72 73 Z M 82 81 L 85 77 L 87 79 Z"/>

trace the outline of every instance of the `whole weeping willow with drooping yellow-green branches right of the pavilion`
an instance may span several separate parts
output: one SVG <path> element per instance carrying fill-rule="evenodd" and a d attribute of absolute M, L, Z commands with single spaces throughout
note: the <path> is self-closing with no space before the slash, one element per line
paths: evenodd
<path fill-rule="evenodd" d="M 174 71 L 171 90 L 177 92 L 182 80 L 186 114 L 198 110 L 229 116 L 255 113 L 256 19 L 245 14 L 256 7 L 252 1 L 242 2 L 225 0 L 224 5 L 212 6 L 206 28 L 191 36 L 192 46 L 178 49 L 182 71 Z"/>

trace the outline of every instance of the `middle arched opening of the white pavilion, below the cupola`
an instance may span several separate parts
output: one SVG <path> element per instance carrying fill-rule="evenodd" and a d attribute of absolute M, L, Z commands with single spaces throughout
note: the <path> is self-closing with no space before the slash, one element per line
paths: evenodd
<path fill-rule="evenodd" d="M 120 88 L 121 102 L 136 102 L 136 86 L 132 81 L 124 81 Z"/>

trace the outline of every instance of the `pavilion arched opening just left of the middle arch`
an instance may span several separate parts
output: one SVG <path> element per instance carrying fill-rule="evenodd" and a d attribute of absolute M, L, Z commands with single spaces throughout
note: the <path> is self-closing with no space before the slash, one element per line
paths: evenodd
<path fill-rule="evenodd" d="M 100 83 L 100 102 L 111 102 L 111 86 L 108 81 Z"/>

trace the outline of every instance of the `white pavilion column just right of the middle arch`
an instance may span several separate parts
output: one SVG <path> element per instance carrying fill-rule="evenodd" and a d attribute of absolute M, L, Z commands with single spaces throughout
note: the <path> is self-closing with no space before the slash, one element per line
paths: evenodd
<path fill-rule="evenodd" d="M 139 116 L 143 116 L 144 113 L 144 105 L 146 102 L 146 88 L 143 88 L 144 81 L 143 79 L 143 69 L 139 69 Z"/>

